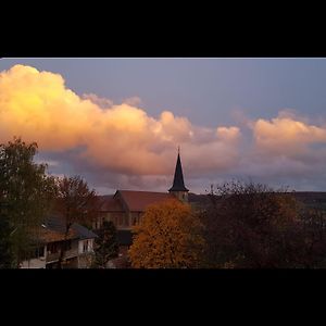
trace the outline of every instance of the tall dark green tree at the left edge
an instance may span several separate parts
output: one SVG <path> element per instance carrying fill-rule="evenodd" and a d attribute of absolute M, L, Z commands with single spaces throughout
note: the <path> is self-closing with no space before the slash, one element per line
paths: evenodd
<path fill-rule="evenodd" d="M 17 267 L 33 249 L 40 226 L 51 209 L 54 178 L 46 164 L 36 164 L 37 143 L 14 138 L 0 145 L 1 244 L 7 248 L 2 266 Z"/>

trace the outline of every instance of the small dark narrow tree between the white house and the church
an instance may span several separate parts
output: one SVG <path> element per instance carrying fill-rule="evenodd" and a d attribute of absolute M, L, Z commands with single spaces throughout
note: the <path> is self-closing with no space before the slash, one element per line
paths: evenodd
<path fill-rule="evenodd" d="M 97 234 L 93 266 L 105 268 L 108 262 L 118 254 L 116 228 L 111 221 L 104 221 Z"/>

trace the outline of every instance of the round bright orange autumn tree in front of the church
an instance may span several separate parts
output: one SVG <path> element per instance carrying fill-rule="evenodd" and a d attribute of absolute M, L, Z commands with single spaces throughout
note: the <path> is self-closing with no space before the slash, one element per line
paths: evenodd
<path fill-rule="evenodd" d="M 134 231 L 129 249 L 133 267 L 199 266 L 204 246 L 202 224 L 190 205 L 177 200 L 150 205 Z"/>

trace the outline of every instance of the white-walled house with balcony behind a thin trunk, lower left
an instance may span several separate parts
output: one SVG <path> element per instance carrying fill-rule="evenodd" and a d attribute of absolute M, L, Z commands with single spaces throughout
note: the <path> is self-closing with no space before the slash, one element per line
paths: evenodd
<path fill-rule="evenodd" d="M 93 255 L 97 235 L 74 223 L 65 237 L 65 224 L 58 216 L 49 217 L 35 230 L 37 246 L 21 268 L 55 268 L 61 251 L 64 250 L 63 268 L 87 268 Z"/>

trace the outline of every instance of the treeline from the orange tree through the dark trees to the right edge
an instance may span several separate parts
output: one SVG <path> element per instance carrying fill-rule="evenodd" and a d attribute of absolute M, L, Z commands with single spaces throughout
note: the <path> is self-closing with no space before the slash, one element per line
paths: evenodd
<path fill-rule="evenodd" d="M 231 181 L 196 208 L 149 208 L 129 254 L 142 268 L 326 267 L 325 226 L 325 212 L 291 192 Z"/>

